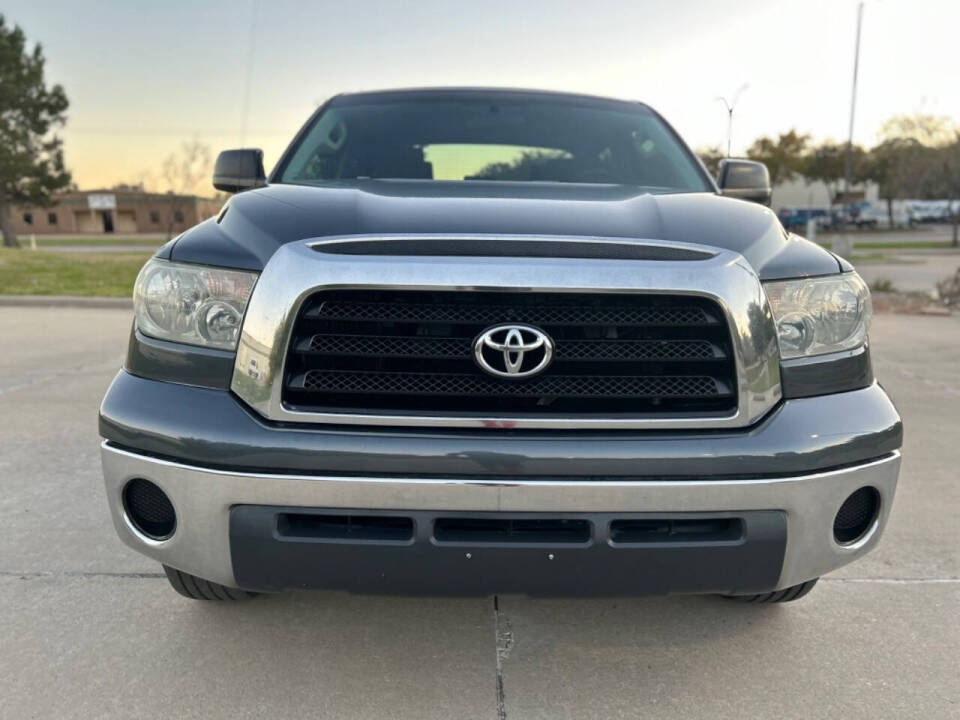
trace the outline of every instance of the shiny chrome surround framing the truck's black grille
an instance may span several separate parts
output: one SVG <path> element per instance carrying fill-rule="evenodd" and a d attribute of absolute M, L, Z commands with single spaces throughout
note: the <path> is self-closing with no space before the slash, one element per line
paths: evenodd
<path fill-rule="evenodd" d="M 688 251 L 684 259 L 606 259 L 516 256 L 404 256 L 323 252 L 337 243 L 390 240 L 540 241 L 553 247 L 634 246 Z M 403 243 L 398 243 L 402 246 Z M 671 257 L 669 253 L 667 257 Z M 734 412 L 717 416 L 477 417 L 456 414 L 364 414 L 298 411 L 281 397 L 293 325 L 304 301 L 333 289 L 505 291 L 540 293 L 671 294 L 714 300 L 731 331 L 737 367 Z M 509 235 L 376 235 L 304 240 L 282 246 L 270 259 L 247 308 L 231 388 L 267 419 L 297 423 L 420 427 L 556 429 L 700 429 L 744 427 L 779 401 L 776 327 L 760 280 L 738 253 L 689 243 L 632 238 Z"/>

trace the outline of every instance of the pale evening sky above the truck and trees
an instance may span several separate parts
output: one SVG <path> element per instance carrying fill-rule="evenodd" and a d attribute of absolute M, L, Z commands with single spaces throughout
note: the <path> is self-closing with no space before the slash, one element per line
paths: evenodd
<path fill-rule="evenodd" d="M 67 91 L 77 184 L 164 190 L 163 160 L 184 142 L 260 147 L 269 172 L 326 98 L 392 87 L 642 100 L 701 148 L 726 144 L 717 97 L 747 84 L 734 154 L 790 128 L 845 140 L 857 2 L 5 0 L 0 12 Z M 855 142 L 895 114 L 960 122 L 958 29 L 957 0 L 864 3 Z"/>

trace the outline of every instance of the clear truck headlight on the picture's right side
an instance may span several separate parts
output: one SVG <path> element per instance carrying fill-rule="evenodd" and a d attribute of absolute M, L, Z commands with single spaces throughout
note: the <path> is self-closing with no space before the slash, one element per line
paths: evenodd
<path fill-rule="evenodd" d="M 764 283 L 784 359 L 850 350 L 867 339 L 873 306 L 856 273 Z"/>

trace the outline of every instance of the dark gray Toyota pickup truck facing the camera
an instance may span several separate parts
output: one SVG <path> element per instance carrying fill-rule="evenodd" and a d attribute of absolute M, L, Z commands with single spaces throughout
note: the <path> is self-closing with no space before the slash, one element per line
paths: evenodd
<path fill-rule="evenodd" d="M 869 290 L 635 102 L 339 95 L 134 291 L 120 538 L 198 599 L 802 597 L 871 550 L 902 426 Z"/>

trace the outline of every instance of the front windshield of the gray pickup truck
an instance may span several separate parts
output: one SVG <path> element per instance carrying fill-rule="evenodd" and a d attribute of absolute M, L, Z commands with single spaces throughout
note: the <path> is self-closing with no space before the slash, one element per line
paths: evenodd
<path fill-rule="evenodd" d="M 556 100 L 378 100 L 334 104 L 302 136 L 279 182 L 509 180 L 711 188 L 690 153 L 641 105 Z"/>

